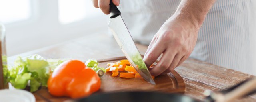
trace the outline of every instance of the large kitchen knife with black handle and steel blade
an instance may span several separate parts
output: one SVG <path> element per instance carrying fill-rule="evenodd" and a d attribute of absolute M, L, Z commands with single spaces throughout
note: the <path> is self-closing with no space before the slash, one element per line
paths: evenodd
<path fill-rule="evenodd" d="M 116 42 L 122 49 L 124 55 L 131 63 L 131 65 L 136 69 L 136 71 L 148 82 L 151 84 L 156 84 L 151 77 L 146 64 L 144 63 L 140 52 L 138 51 L 130 32 L 128 31 L 124 21 L 121 17 L 121 12 L 110 0 L 110 20 L 108 27 L 112 31 Z"/>

